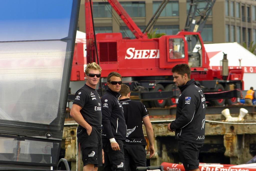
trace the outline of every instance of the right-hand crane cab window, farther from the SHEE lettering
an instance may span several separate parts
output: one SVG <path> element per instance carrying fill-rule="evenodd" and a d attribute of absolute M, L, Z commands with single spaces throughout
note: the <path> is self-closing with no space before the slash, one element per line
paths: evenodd
<path fill-rule="evenodd" d="M 197 35 L 187 35 L 185 39 L 188 44 L 188 66 L 201 67 L 202 45 Z"/>

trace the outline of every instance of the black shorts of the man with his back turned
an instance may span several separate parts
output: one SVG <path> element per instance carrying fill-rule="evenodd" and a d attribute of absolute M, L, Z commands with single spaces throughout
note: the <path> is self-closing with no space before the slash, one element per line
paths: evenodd
<path fill-rule="evenodd" d="M 136 170 L 136 167 L 146 167 L 146 151 L 144 145 L 124 144 L 124 161 L 126 171 Z"/>

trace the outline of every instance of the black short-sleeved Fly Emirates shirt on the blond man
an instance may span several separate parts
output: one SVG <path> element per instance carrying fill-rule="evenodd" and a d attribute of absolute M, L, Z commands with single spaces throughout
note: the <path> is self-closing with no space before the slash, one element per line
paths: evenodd
<path fill-rule="evenodd" d="M 95 89 L 84 84 L 76 92 L 73 104 L 77 104 L 82 108 L 80 112 L 88 124 L 101 130 L 101 100 Z"/>

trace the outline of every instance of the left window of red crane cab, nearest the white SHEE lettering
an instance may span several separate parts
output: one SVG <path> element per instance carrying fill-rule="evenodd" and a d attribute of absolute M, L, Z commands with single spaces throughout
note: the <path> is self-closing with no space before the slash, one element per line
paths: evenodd
<path fill-rule="evenodd" d="M 182 38 L 169 39 L 169 59 L 182 59 L 184 54 L 184 41 Z"/>

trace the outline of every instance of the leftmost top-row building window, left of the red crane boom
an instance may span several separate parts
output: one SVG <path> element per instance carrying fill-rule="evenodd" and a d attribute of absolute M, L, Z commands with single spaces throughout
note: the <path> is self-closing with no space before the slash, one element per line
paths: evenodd
<path fill-rule="evenodd" d="M 107 2 L 94 2 L 92 5 L 94 18 L 111 18 L 112 8 Z"/>

